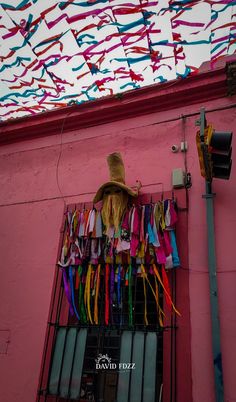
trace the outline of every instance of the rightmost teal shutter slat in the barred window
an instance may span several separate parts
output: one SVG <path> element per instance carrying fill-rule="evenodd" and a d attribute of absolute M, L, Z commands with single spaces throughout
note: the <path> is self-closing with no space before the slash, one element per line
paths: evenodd
<path fill-rule="evenodd" d="M 146 336 L 143 400 L 155 402 L 157 335 L 149 332 Z"/>

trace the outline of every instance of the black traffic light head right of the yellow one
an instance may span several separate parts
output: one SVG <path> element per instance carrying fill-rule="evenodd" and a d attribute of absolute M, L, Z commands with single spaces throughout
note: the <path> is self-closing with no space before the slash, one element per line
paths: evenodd
<path fill-rule="evenodd" d="M 213 131 L 209 141 L 212 162 L 212 176 L 228 180 L 232 166 L 232 133 Z"/>

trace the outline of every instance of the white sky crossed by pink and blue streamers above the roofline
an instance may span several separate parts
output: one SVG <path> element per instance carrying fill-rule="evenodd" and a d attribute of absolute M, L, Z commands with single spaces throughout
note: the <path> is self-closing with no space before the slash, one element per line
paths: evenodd
<path fill-rule="evenodd" d="M 0 2 L 0 119 L 197 74 L 236 52 L 236 1 Z"/>

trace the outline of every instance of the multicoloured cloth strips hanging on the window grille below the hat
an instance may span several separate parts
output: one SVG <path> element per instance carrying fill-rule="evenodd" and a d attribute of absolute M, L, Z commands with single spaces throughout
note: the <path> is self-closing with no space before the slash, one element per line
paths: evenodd
<path fill-rule="evenodd" d="M 100 211 L 93 208 L 67 212 L 58 266 L 63 272 L 70 315 L 82 324 L 121 324 L 122 306 L 126 303 L 128 325 L 134 325 L 137 278 L 143 284 L 145 326 L 149 325 L 147 294 L 155 302 L 161 327 L 165 314 L 160 293 L 169 310 L 179 315 L 168 278 L 168 272 L 180 264 L 175 237 L 177 218 L 173 200 L 132 206 L 125 213 L 118 233 L 108 239 L 103 235 Z"/>

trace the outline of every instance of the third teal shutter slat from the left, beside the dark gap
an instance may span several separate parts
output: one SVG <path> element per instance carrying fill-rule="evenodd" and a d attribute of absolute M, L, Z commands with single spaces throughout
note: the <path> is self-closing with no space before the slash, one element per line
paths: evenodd
<path fill-rule="evenodd" d="M 87 328 L 81 328 L 77 336 L 75 358 L 72 368 L 72 379 L 70 386 L 71 399 L 79 398 L 86 340 L 87 340 Z"/>

